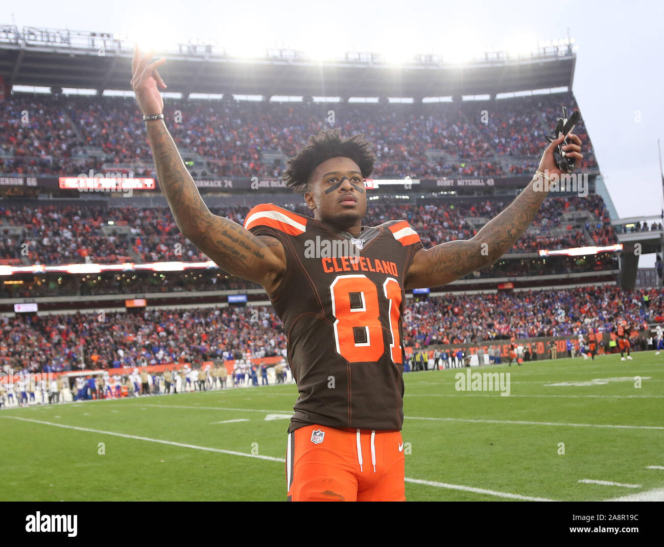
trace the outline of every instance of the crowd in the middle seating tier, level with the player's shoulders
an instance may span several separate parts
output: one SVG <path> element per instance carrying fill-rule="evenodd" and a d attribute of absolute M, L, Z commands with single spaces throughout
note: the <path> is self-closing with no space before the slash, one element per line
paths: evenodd
<path fill-rule="evenodd" d="M 469 218 L 483 218 L 486 222 L 508 204 L 488 200 L 428 205 L 370 204 L 364 223 L 374 226 L 386 220 L 408 220 L 428 248 L 472 238 L 477 228 L 473 228 Z M 290 208 L 311 216 L 311 210 L 304 204 L 292 204 Z M 242 224 L 249 208 L 225 206 L 211 210 Z M 588 211 L 596 220 L 583 225 L 564 220 L 564 213 L 574 211 Z M 25 237 L 9 236 L 7 230 L 3 233 L 3 226 L 23 226 Z M 14 262 L 25 258 L 28 264 L 208 260 L 181 234 L 171 211 L 163 207 L 7 204 L 0 206 L 0 234 L 3 234 L 0 258 Z M 590 244 L 588 236 L 598 245 L 617 241 L 601 196 L 550 196 L 532 227 L 511 252 L 584 246 Z"/>

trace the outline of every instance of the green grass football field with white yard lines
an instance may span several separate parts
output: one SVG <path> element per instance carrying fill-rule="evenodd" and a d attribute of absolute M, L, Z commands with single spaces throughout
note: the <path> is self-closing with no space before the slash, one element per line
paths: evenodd
<path fill-rule="evenodd" d="M 409 501 L 662 499 L 664 354 L 471 369 L 509 372 L 509 396 L 457 390 L 466 370 L 404 375 Z M 286 384 L 1 410 L 0 499 L 284 501 L 296 397 Z"/>

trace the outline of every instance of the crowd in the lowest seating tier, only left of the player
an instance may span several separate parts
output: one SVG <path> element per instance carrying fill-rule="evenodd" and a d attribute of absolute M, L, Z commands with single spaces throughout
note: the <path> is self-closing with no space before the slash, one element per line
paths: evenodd
<path fill-rule="evenodd" d="M 14 370 L 116 368 L 210 358 L 282 355 L 286 336 L 274 310 L 230 306 L 144 313 L 3 317 L 0 359 Z M 46 368 L 48 367 L 48 370 Z"/>

